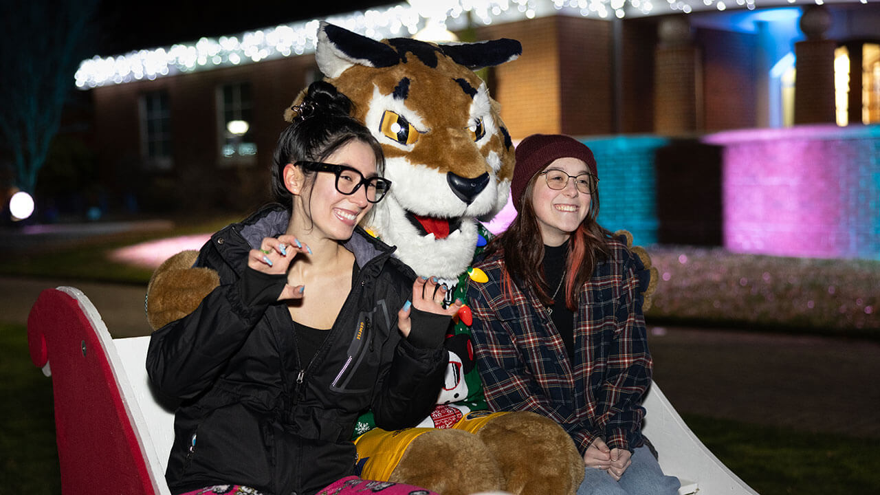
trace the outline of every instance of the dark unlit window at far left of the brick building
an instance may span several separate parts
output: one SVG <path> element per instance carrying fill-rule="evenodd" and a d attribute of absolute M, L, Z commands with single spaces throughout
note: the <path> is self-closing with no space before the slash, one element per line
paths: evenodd
<path fill-rule="evenodd" d="M 171 149 L 171 107 L 168 93 L 148 92 L 141 96 L 141 156 L 147 167 L 170 169 L 172 167 Z"/>

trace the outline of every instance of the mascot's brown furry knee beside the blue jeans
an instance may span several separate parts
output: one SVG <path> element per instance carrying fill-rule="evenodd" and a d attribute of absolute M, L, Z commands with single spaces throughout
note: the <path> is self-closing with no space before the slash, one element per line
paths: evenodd
<path fill-rule="evenodd" d="M 583 481 L 583 458 L 568 432 L 533 412 L 493 418 L 477 432 L 517 495 L 574 494 Z"/>

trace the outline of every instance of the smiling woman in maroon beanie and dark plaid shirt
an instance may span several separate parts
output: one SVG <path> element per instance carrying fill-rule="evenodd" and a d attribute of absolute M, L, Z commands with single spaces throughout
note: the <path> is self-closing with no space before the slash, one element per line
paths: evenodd
<path fill-rule="evenodd" d="M 477 366 L 493 410 L 554 419 L 583 455 L 583 494 L 675 494 L 647 439 L 652 360 L 642 316 L 644 267 L 598 225 L 593 153 L 572 137 L 517 146 L 517 218 L 469 282 Z"/>

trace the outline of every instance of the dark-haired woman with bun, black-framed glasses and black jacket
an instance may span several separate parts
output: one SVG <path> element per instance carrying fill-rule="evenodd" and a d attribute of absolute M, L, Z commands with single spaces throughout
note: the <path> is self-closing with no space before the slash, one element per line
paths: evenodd
<path fill-rule="evenodd" d="M 309 87 L 275 151 L 278 204 L 214 234 L 196 266 L 220 285 L 151 337 L 150 379 L 181 401 L 173 493 L 354 491 L 356 418 L 396 430 L 434 407 L 460 303 L 357 226 L 391 182 L 350 105 Z"/>

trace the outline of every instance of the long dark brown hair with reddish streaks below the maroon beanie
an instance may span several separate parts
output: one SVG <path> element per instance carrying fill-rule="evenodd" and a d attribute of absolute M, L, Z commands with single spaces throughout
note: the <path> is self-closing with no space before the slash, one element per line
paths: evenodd
<path fill-rule="evenodd" d="M 545 167 L 546 168 L 546 167 Z M 538 217 L 532 205 L 532 190 L 539 174 L 534 174 L 526 184 L 519 214 L 507 230 L 489 242 L 486 257 L 500 255 L 507 270 L 504 272 L 502 286 L 510 299 L 514 280 L 525 287 L 532 287 L 538 299 L 545 305 L 553 304 L 548 293 L 544 273 L 544 242 L 538 226 Z M 611 233 L 598 225 L 598 189 L 590 195 L 590 211 L 583 218 L 568 240 L 568 256 L 565 264 L 565 306 L 571 311 L 577 309 L 577 294 L 583 284 L 592 276 L 596 263 L 609 253 L 608 240 Z M 524 287 L 523 287 L 524 288 Z"/>

